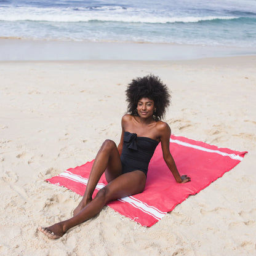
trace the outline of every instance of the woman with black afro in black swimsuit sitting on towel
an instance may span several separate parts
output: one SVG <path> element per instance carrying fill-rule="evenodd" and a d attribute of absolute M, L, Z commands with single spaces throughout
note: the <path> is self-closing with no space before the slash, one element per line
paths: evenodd
<path fill-rule="evenodd" d="M 190 182 L 190 177 L 180 176 L 169 151 L 170 127 L 160 121 L 170 103 L 167 86 L 153 75 L 132 80 L 126 90 L 128 113 L 122 117 L 122 135 L 118 146 L 106 140 L 95 158 L 86 192 L 74 210 L 74 216 L 47 228 L 39 227 L 49 238 L 60 238 L 67 230 L 97 215 L 110 201 L 142 193 L 146 184 L 148 164 L 159 142 L 164 161 L 176 182 Z M 108 182 L 92 193 L 105 172 Z"/>

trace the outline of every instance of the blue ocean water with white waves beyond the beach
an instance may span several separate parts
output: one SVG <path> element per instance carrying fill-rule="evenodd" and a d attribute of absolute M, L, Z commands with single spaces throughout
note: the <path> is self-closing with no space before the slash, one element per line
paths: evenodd
<path fill-rule="evenodd" d="M 256 46 L 256 0 L 0 0 L 0 38 Z"/>

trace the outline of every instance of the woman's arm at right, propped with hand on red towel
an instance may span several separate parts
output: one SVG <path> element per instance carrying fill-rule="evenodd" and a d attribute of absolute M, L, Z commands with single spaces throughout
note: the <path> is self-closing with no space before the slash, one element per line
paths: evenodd
<path fill-rule="evenodd" d="M 166 162 L 167 166 L 169 167 L 170 171 L 172 172 L 172 175 L 174 175 L 174 178 L 177 183 L 186 183 L 190 182 L 190 177 L 187 177 L 187 175 L 182 175 L 178 173 L 176 164 L 174 162 L 174 158 L 172 158 L 172 154 L 170 154 L 170 127 L 166 122 L 159 123 L 159 130 L 160 130 L 160 141 L 162 146 L 162 156 L 164 158 L 164 161 Z"/>

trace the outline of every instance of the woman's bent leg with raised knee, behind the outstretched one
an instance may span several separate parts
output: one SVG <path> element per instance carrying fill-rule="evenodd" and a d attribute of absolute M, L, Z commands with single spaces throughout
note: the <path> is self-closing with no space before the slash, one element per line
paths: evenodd
<path fill-rule="evenodd" d="M 122 174 L 122 163 L 118 148 L 112 140 L 105 140 L 98 151 L 92 170 L 90 170 L 86 191 L 78 207 L 74 209 L 73 215 L 78 214 L 80 210 L 92 201 L 92 193 L 94 193 L 95 187 L 103 172 L 105 172 L 107 182 L 111 182 L 111 180 Z"/>

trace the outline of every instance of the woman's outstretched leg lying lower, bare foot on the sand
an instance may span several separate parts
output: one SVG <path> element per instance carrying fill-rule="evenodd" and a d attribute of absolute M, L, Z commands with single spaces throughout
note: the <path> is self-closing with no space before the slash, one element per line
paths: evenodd
<path fill-rule="evenodd" d="M 123 198 L 124 196 L 142 193 L 145 184 L 146 175 L 140 170 L 122 174 L 108 183 L 102 190 L 98 191 L 97 196 L 74 217 L 47 228 L 40 227 L 39 230 L 49 236 L 49 238 L 60 238 L 73 226 L 97 215 L 107 202 Z"/>

